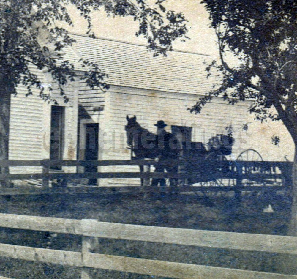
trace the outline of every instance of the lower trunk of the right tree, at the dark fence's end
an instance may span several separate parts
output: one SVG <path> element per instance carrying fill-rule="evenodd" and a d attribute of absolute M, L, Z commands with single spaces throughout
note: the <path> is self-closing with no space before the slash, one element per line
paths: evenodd
<path fill-rule="evenodd" d="M 291 185 L 291 218 L 288 235 L 297 236 L 297 142 L 295 142 L 295 155 L 292 169 Z"/>

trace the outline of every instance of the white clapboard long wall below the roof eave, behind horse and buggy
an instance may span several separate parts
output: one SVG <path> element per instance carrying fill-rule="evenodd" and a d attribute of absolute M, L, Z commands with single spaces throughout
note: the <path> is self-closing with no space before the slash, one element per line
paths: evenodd
<path fill-rule="evenodd" d="M 127 123 L 126 115 L 137 116 L 139 124 L 149 131 L 156 133 L 154 124 L 157 120 L 164 120 L 171 131 L 171 125 L 192 127 L 192 141 L 207 142 L 208 139 L 217 134 L 224 133 L 225 127 L 232 124 L 234 136 L 237 131 L 247 122 L 247 106 L 235 105 L 229 109 L 227 103 L 221 98 L 216 98 L 212 103 L 206 105 L 206 109 L 199 115 L 190 114 L 187 108 L 191 107 L 199 98 L 194 94 L 170 93 L 151 91 L 137 88 L 127 88 L 112 86 L 108 91 L 109 105 L 105 113 L 108 114 L 107 139 L 110 141 L 111 148 L 103 152 L 102 159 L 129 159 L 130 151 L 127 149 L 127 138 L 124 126 Z M 239 152 L 234 146 L 233 153 Z M 100 151 L 100 150 L 99 150 Z M 139 171 L 136 166 L 110 166 L 101 167 L 101 171 Z M 137 185 L 139 179 L 110 179 L 103 180 L 113 186 L 124 184 Z"/>

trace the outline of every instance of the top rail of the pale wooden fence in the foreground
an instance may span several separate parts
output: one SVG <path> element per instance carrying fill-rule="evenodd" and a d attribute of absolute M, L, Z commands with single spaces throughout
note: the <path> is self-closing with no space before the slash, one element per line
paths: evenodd
<path fill-rule="evenodd" d="M 79 234 L 89 237 L 297 255 L 297 237 L 289 236 L 165 228 L 107 223 L 93 219 L 76 220 L 4 213 L 0 214 L 0 226 L 34 231 Z"/>

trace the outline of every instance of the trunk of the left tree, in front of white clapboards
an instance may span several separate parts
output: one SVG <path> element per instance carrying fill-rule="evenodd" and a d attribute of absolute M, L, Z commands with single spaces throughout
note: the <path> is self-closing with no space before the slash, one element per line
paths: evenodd
<path fill-rule="evenodd" d="M 0 160 L 8 160 L 10 97 L 13 86 L 4 80 L 0 83 Z M 0 166 L 0 174 L 9 173 L 8 167 Z M 1 187 L 10 187 L 9 180 L 0 180 Z"/>

